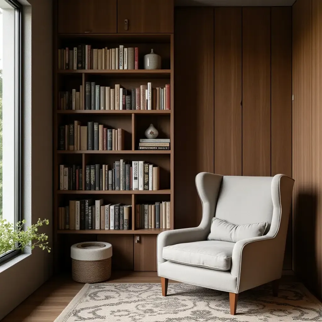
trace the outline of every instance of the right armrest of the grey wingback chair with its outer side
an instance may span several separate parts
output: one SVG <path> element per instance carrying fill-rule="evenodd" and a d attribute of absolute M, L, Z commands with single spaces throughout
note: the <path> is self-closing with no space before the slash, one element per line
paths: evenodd
<path fill-rule="evenodd" d="M 284 249 L 278 236 L 265 235 L 237 242 L 232 251 L 231 268 L 231 274 L 237 277 L 237 293 L 279 279 Z"/>

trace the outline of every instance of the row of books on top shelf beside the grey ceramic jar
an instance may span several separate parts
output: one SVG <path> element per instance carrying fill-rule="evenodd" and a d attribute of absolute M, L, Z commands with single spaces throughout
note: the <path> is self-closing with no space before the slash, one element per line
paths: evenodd
<path fill-rule="evenodd" d="M 138 69 L 138 48 L 120 45 L 93 49 L 91 45 L 80 44 L 58 49 L 58 69 Z"/>

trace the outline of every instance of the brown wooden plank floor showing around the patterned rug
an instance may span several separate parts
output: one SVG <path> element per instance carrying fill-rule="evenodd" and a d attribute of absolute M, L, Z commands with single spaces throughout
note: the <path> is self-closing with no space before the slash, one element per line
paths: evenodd
<path fill-rule="evenodd" d="M 160 283 L 156 272 L 121 271 L 112 273 L 110 283 Z M 2 322 L 53 322 L 84 284 L 68 277 L 55 277 L 44 283 Z"/>

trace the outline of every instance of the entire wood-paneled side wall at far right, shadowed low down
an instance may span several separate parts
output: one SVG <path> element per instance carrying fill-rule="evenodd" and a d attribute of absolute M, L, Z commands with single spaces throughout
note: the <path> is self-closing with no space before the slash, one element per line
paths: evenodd
<path fill-rule="evenodd" d="M 322 3 L 293 5 L 294 270 L 322 297 Z"/>

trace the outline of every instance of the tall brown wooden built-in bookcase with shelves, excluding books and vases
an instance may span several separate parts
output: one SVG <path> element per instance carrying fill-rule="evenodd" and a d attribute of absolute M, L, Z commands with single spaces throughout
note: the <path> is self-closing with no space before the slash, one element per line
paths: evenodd
<path fill-rule="evenodd" d="M 117 48 L 119 45 L 124 47 L 138 47 L 139 52 L 139 69 L 138 70 L 58 70 L 57 50 L 59 48 L 72 48 L 80 43 L 90 43 L 92 48 Z M 162 57 L 161 70 L 144 70 L 143 56 L 151 49 Z M 56 33 L 54 39 L 54 245 L 56 268 L 64 264 L 68 259 L 69 247 L 73 242 L 87 240 L 102 240 L 101 235 L 113 234 L 112 238 L 117 249 L 119 243 L 130 245 L 130 239 L 122 239 L 122 235 L 133 235 L 134 256 L 140 254 L 153 254 L 152 248 L 156 245 L 156 236 L 165 229 L 136 229 L 135 228 L 135 205 L 143 203 L 154 203 L 156 201 L 171 201 L 170 211 L 170 229 L 174 228 L 174 61 L 173 61 L 173 34 L 59 34 Z M 74 88 L 85 89 L 85 83 L 96 82 L 100 86 L 111 86 L 120 84 L 126 89 L 140 87 L 141 84 L 152 83 L 152 87 L 165 87 L 170 84 L 170 110 L 62 110 L 58 109 L 59 91 L 72 90 Z M 82 100 L 84 101 L 85 90 L 83 91 Z M 60 125 L 73 123 L 75 120 L 80 121 L 81 125 L 87 125 L 88 121 L 99 122 L 110 128 L 124 129 L 124 150 L 122 151 L 64 151 L 58 150 L 58 128 Z M 159 131 L 158 138 L 170 138 L 170 150 L 137 150 L 139 139 L 145 138 L 144 132 L 150 124 L 153 124 Z M 159 186 L 160 190 L 104 190 L 88 191 L 84 189 L 85 185 L 85 167 L 90 164 L 109 164 L 120 159 L 129 161 L 145 161 L 153 163 L 160 169 Z M 59 165 L 76 164 L 80 165 L 83 173 L 83 190 L 59 190 Z M 58 207 L 65 206 L 69 200 L 80 199 L 104 199 L 107 203 L 122 203 L 132 205 L 132 218 L 129 230 L 58 230 Z M 79 235 L 73 238 L 71 235 Z M 144 238 L 143 235 L 150 235 L 150 238 Z M 66 238 L 66 235 L 69 235 Z M 142 244 L 140 249 L 135 243 L 136 237 L 141 236 Z M 119 237 L 118 237 L 119 236 Z M 76 236 L 75 236 L 76 237 Z M 125 237 L 125 236 L 124 236 Z M 106 241 L 110 241 L 107 236 Z M 151 243 L 152 242 L 152 243 Z M 113 245 L 114 247 L 114 245 Z M 61 251 L 61 248 L 64 248 Z M 114 252 L 113 252 L 114 253 Z M 126 251 L 124 252 L 126 254 Z M 117 256 L 117 255 L 116 255 Z M 127 256 L 127 255 L 124 255 Z M 64 258 L 65 257 L 65 258 Z M 117 257 L 122 261 L 122 257 Z M 127 260 L 127 259 L 125 259 Z M 132 267 L 152 267 L 135 263 Z M 149 259 L 151 261 L 155 258 Z M 131 265 L 129 265 L 129 268 Z M 119 265 L 115 265 L 118 269 Z M 140 270 L 140 269 L 137 269 Z M 145 270 L 145 269 L 143 269 Z"/>

